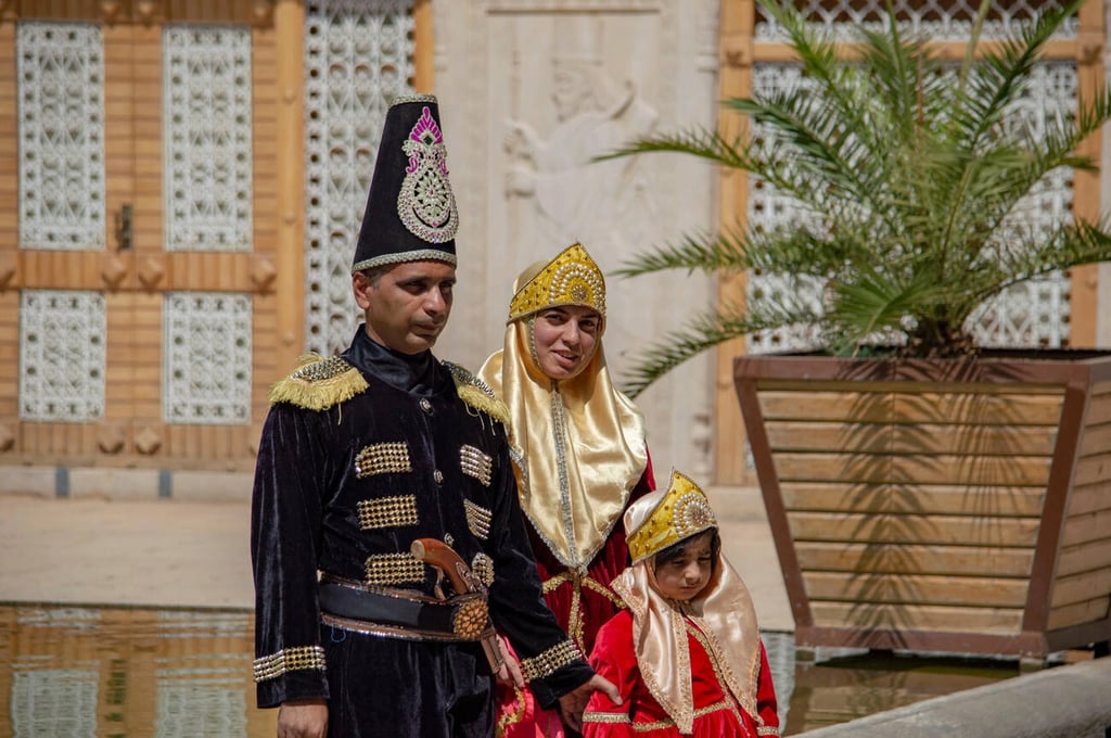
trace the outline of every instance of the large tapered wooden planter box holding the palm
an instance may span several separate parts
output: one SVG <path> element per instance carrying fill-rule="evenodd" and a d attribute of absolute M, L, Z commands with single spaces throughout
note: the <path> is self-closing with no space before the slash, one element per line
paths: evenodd
<path fill-rule="evenodd" d="M 1105 650 L 1111 353 L 1055 355 L 735 360 L 799 646 Z"/>

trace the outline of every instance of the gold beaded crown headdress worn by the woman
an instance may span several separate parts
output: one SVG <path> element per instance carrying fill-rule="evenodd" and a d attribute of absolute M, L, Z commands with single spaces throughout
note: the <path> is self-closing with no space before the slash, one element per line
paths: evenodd
<path fill-rule="evenodd" d="M 563 249 L 517 290 L 509 303 L 509 321 L 556 305 L 593 308 L 605 317 L 605 279 L 580 243 Z"/>

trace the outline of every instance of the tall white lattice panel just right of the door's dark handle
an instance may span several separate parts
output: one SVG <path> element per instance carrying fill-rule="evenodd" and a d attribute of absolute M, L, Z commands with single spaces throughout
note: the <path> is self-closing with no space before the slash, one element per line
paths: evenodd
<path fill-rule="evenodd" d="M 167 251 L 251 250 L 251 30 L 162 29 Z"/>

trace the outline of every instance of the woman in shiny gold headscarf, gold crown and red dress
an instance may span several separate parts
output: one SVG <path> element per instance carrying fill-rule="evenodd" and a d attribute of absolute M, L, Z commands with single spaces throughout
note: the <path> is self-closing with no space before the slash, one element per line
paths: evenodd
<path fill-rule="evenodd" d="M 609 588 L 629 564 L 621 516 L 654 488 L 644 419 L 605 367 L 605 281 L 582 246 L 526 269 L 513 292 L 504 348 L 479 376 L 509 407 L 544 599 L 585 655 L 621 607 Z M 499 735 L 563 735 L 528 688 L 499 700 Z"/>

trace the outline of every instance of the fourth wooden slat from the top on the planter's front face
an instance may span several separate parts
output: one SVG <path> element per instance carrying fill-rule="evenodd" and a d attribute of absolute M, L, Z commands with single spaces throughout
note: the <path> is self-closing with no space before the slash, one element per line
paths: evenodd
<path fill-rule="evenodd" d="M 782 482 L 789 510 L 907 512 L 1035 517 L 1042 512 L 1040 487 L 958 487 L 944 485 L 853 485 Z"/>

